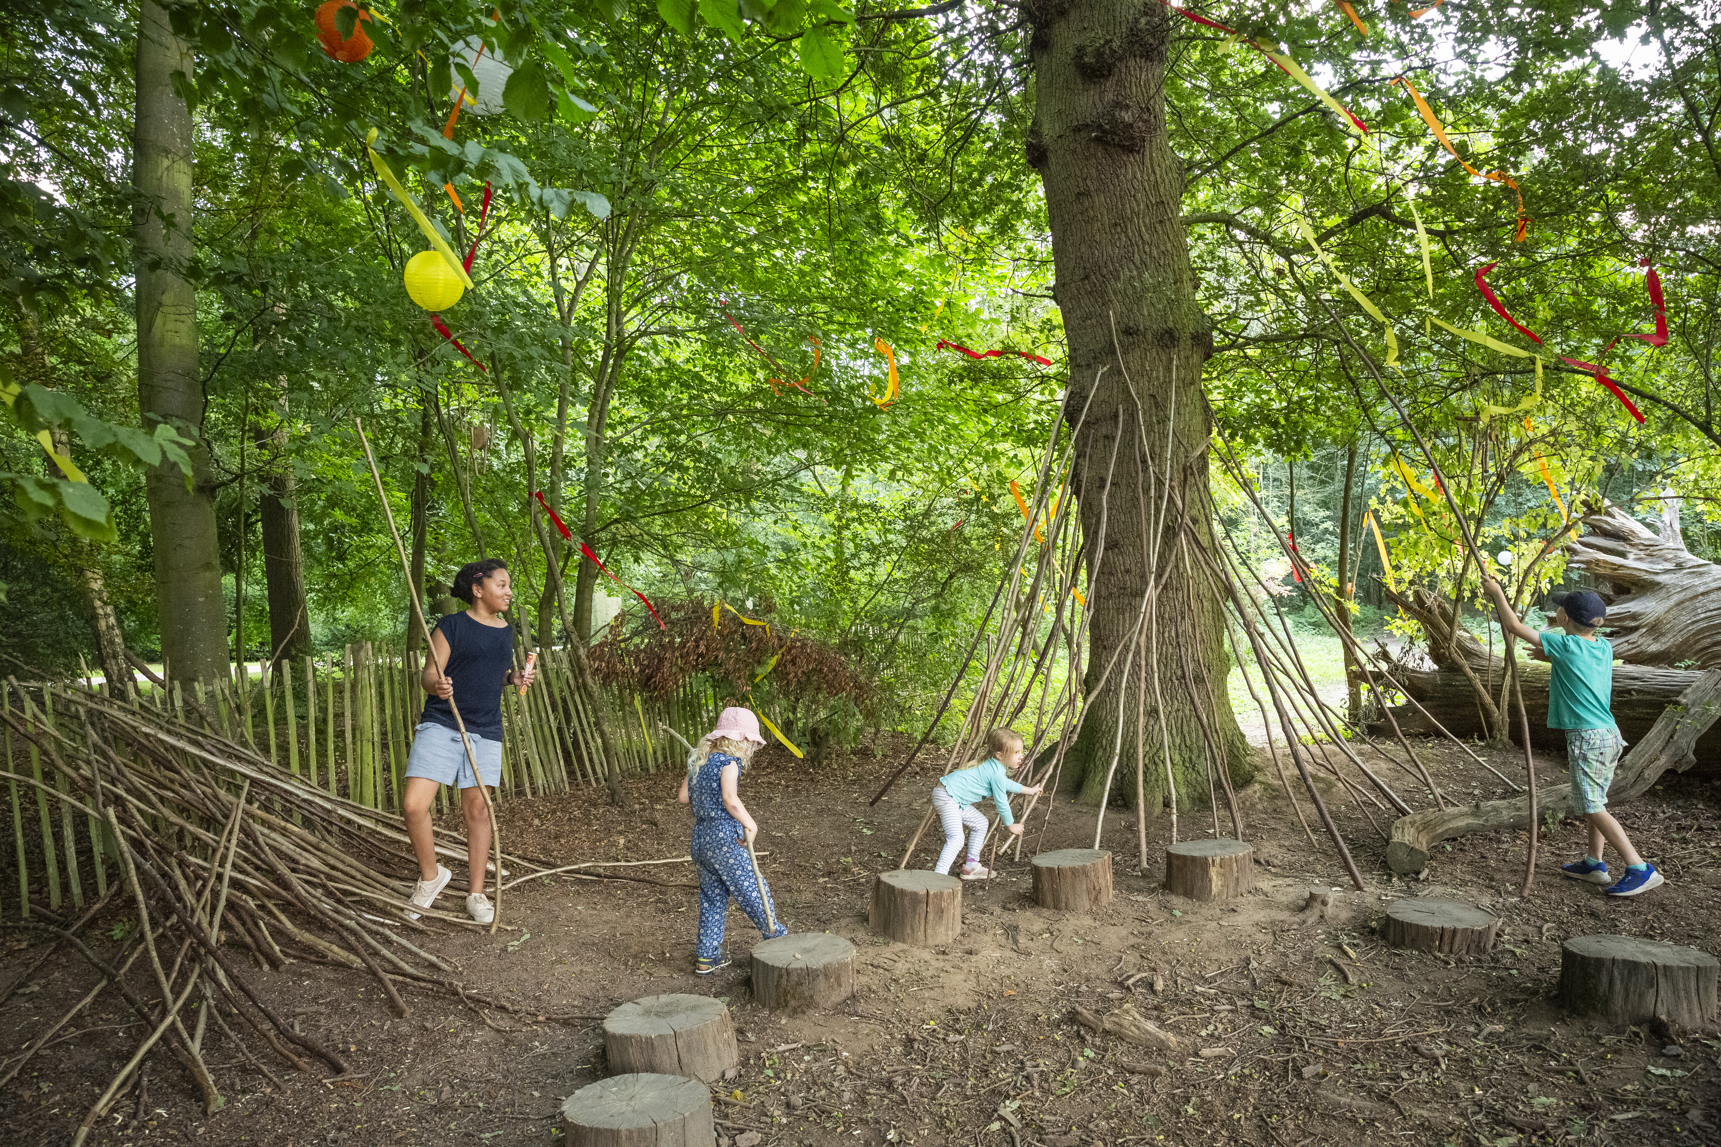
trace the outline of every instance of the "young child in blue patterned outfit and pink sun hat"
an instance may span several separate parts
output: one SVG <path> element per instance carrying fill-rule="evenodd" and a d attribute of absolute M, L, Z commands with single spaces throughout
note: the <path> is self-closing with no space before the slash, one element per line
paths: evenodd
<path fill-rule="evenodd" d="M 740 776 L 754 750 L 764 745 L 759 719 L 750 708 L 728 707 L 718 727 L 707 733 L 687 755 L 687 776 L 676 800 L 694 807 L 694 867 L 699 870 L 699 949 L 695 975 L 711 975 L 730 961 L 723 958 L 723 929 L 730 915 L 730 898 L 759 934 L 786 935 L 769 899 L 771 887 L 754 875 L 747 844 L 759 836 L 759 825 L 740 798 Z"/>

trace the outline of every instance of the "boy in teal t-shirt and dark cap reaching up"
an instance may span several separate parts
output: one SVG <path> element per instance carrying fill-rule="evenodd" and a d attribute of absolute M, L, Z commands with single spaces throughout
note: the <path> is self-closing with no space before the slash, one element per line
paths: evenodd
<path fill-rule="evenodd" d="M 1506 592 L 1492 578 L 1482 580 L 1482 588 L 1494 598 L 1501 628 L 1542 652 L 1552 662 L 1547 686 L 1547 727 L 1566 731 L 1566 762 L 1571 769 L 1571 807 L 1583 813 L 1590 825 L 1590 851 L 1583 860 L 1561 865 L 1561 872 L 1590 884 L 1609 884 L 1602 853 L 1607 844 L 1619 850 L 1626 862 L 1625 875 L 1607 887 L 1609 896 L 1637 896 L 1666 884 L 1656 867 L 1645 863 L 1625 829 L 1607 812 L 1607 786 L 1625 741 L 1614 724 L 1609 700 L 1613 696 L 1613 645 L 1595 636 L 1597 626 L 1607 616 L 1607 605 L 1594 590 L 1559 593 L 1554 604 L 1552 629 L 1537 633 L 1518 621 L 1506 602 Z"/>

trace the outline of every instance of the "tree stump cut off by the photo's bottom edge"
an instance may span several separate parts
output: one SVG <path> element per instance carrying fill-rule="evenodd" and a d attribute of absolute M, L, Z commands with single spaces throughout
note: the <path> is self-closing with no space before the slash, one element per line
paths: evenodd
<path fill-rule="evenodd" d="M 582 1087 L 561 1104 L 568 1147 L 716 1147 L 711 1092 L 651 1071 Z"/>

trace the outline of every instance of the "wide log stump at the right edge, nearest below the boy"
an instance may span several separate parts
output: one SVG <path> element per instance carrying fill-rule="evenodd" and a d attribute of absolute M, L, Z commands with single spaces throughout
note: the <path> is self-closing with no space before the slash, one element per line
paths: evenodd
<path fill-rule="evenodd" d="M 1559 1003 L 1571 1011 L 1683 1028 L 1714 1020 L 1721 961 L 1709 953 L 1630 935 L 1573 935 L 1559 956 Z"/>

